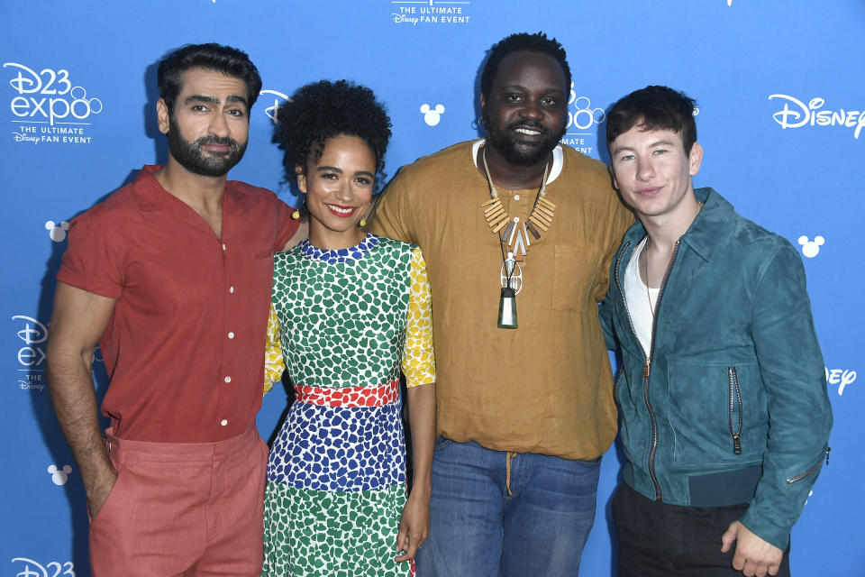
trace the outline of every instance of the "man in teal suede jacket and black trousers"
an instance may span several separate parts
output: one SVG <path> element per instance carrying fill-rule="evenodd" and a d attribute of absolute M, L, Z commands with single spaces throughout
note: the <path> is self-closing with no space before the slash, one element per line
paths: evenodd
<path fill-rule="evenodd" d="M 796 249 L 697 188 L 695 102 L 646 87 L 607 114 L 625 234 L 601 316 L 622 354 L 619 577 L 789 574 L 832 413 Z"/>

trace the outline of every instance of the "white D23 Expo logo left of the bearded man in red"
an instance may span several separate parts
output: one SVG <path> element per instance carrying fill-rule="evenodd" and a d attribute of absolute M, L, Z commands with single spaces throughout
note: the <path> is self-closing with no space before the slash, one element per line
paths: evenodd
<path fill-rule="evenodd" d="M 39 72 L 17 62 L 5 62 L 14 74 L 9 86 L 14 96 L 9 111 L 15 142 L 31 144 L 89 144 L 87 126 L 91 116 L 102 112 L 102 101 L 75 86 L 67 69 Z"/>

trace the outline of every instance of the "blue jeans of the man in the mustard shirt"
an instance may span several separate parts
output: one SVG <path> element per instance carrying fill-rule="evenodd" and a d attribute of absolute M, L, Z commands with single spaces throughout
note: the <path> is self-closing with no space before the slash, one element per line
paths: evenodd
<path fill-rule="evenodd" d="M 595 522 L 600 458 L 516 454 L 509 483 L 507 462 L 508 453 L 436 439 L 417 577 L 577 575 Z"/>

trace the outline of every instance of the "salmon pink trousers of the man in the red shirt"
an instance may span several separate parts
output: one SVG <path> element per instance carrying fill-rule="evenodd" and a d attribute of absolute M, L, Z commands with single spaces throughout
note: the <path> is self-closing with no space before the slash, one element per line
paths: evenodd
<path fill-rule="evenodd" d="M 90 524 L 94 577 L 259 575 L 268 445 L 128 441 L 105 431 L 117 481 Z"/>

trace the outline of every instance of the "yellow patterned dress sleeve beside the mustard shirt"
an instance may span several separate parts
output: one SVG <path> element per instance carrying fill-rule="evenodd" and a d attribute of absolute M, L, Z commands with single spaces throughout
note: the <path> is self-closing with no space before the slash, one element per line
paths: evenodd
<path fill-rule="evenodd" d="M 405 385 L 416 387 L 435 382 L 432 353 L 432 298 L 426 263 L 420 248 L 412 252 L 412 290 L 408 299 L 403 350 Z"/>

